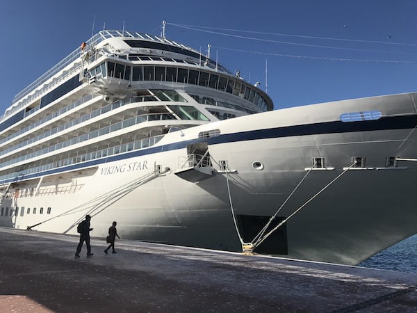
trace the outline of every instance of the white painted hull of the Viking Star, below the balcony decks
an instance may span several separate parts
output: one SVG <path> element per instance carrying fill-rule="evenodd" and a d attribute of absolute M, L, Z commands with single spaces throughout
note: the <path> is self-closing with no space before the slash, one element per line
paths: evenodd
<path fill-rule="evenodd" d="M 76 223 L 92 213 L 92 236 L 106 236 L 111 222 L 117 220 L 124 238 L 239 251 L 233 214 L 272 216 L 306 175 L 311 158 L 325 157 L 332 168 L 309 172 L 279 212 L 278 217 L 286 218 L 340 175 L 343 168 L 351 166 L 352 155 L 366 156 L 366 168 L 346 170 L 286 222 L 286 234 L 277 237 L 282 242 L 271 243 L 277 247 L 277 255 L 357 264 L 417 230 L 414 162 L 400 161 L 392 168 L 384 164 L 385 157 L 416 156 L 414 129 L 378 126 L 361 131 L 355 129 L 367 127 L 366 122 L 356 122 L 351 131 L 337 131 L 338 125 L 354 124 L 338 121 L 341 113 L 362 108 L 391 110 L 390 115 L 397 118 L 416 114 L 413 95 L 408 94 L 271 111 L 177 131 L 167 134 L 149 153 L 101 163 L 93 175 L 74 177 L 74 172 L 68 172 L 73 191 L 42 195 L 42 189 L 54 187 L 46 176 L 39 187 L 41 195 L 3 199 L 2 206 L 54 210 L 51 216 L 13 216 L 7 226 L 26 229 L 44 222 L 33 229 L 76 234 Z M 329 129 L 301 134 L 300 129 L 288 129 L 293 125 L 316 129 L 326 125 Z M 190 139 L 208 129 L 220 129 L 221 135 Z M 199 182 L 175 175 L 179 160 L 187 157 L 186 145 L 194 141 L 206 141 L 211 158 L 227 161 L 229 171 L 213 164 L 213 175 Z M 254 162 L 260 162 L 263 169 L 254 169 Z M 86 205 L 153 172 L 155 164 L 170 170 L 118 200 L 119 194 L 115 194 L 96 209 L 92 205 L 98 202 Z M 51 176 L 56 179 L 56 175 Z M 54 216 L 60 217 L 45 221 Z M 248 232 L 241 224 L 240 232 L 245 241 L 252 240 L 245 238 Z M 288 253 L 277 253 L 283 244 Z"/>

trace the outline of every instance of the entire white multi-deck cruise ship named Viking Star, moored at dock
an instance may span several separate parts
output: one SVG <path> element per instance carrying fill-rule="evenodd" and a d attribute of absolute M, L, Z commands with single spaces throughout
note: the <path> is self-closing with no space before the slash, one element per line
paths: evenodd
<path fill-rule="evenodd" d="M 0 226 L 358 264 L 417 232 L 416 101 L 274 110 L 165 32 L 99 31 L 3 114 Z"/>

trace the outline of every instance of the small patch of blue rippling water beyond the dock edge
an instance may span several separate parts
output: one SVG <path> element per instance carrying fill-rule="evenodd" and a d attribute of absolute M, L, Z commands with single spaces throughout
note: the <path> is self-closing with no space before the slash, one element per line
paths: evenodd
<path fill-rule="evenodd" d="M 377 253 L 358 266 L 417 273 L 417 234 Z"/>

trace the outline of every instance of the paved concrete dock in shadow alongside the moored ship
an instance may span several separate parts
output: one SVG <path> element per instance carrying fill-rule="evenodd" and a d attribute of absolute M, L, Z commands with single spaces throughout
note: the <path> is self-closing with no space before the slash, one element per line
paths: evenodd
<path fill-rule="evenodd" d="M 417 274 L 0 227 L 0 312 L 417 312 Z M 417 262 L 417 260 L 416 260 Z"/>

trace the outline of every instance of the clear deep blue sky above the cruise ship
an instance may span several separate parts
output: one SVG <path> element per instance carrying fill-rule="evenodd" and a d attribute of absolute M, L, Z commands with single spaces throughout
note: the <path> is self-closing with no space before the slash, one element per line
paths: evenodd
<path fill-rule="evenodd" d="M 416 12 L 414 0 L 3 0 L 0 111 L 92 31 L 160 35 L 163 20 L 168 39 L 211 45 L 263 90 L 268 77 L 275 109 L 416 91 Z"/>

